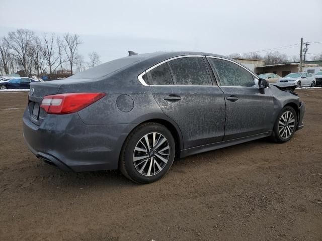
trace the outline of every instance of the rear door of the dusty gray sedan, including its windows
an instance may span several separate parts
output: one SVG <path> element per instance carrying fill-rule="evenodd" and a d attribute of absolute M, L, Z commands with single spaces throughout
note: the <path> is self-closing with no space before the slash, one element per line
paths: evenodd
<path fill-rule="evenodd" d="M 172 58 L 147 70 L 146 77 L 160 108 L 179 126 L 184 149 L 222 141 L 224 96 L 204 56 Z"/>

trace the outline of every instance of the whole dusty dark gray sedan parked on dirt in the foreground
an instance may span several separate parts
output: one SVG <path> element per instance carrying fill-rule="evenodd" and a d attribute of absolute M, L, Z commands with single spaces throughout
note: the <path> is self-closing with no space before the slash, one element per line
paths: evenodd
<path fill-rule="evenodd" d="M 74 111 L 64 98 L 78 95 L 92 102 Z M 77 172 L 119 168 L 148 183 L 175 156 L 269 136 L 288 141 L 303 127 L 304 111 L 298 96 L 268 87 L 232 59 L 171 52 L 131 55 L 64 80 L 31 83 L 23 123 L 29 149 L 49 164 Z M 286 112 L 293 124 L 279 126 Z M 283 139 L 279 128 L 292 132 Z"/>

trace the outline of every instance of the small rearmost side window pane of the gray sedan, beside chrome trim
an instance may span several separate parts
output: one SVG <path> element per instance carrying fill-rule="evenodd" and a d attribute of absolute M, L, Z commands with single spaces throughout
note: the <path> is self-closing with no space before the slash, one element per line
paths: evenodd
<path fill-rule="evenodd" d="M 167 63 L 159 65 L 146 73 L 149 84 L 173 85 L 171 73 Z"/>

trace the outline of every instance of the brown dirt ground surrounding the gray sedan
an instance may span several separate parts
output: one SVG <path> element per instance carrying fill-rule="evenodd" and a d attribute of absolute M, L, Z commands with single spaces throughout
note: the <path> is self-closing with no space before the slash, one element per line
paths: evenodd
<path fill-rule="evenodd" d="M 322 89 L 297 92 L 290 142 L 184 158 L 149 185 L 42 164 L 22 136 L 27 93 L 0 93 L 0 239 L 322 240 Z"/>

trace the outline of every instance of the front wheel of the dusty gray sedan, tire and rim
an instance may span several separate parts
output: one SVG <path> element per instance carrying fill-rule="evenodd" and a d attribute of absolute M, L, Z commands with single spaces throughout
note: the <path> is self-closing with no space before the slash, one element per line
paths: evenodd
<path fill-rule="evenodd" d="M 277 116 L 272 139 L 277 143 L 284 143 L 289 141 L 296 130 L 297 116 L 294 108 L 285 106 L 280 114 Z"/>

